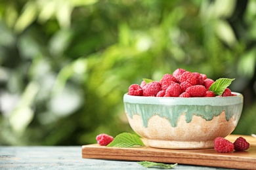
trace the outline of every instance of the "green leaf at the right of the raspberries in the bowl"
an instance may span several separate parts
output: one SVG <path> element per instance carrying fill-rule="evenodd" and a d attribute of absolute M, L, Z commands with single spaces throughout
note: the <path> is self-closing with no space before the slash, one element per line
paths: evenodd
<path fill-rule="evenodd" d="M 213 84 L 211 84 L 209 91 L 215 93 L 215 95 L 222 95 L 224 90 L 231 84 L 235 78 L 219 78 Z"/>

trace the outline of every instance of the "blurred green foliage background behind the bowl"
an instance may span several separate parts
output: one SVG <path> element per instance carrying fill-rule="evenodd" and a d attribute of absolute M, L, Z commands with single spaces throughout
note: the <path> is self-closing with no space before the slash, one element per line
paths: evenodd
<path fill-rule="evenodd" d="M 256 133 L 256 1 L 0 3 L 0 144 L 82 145 L 133 133 L 123 94 L 177 68 L 236 78 L 236 134 Z"/>

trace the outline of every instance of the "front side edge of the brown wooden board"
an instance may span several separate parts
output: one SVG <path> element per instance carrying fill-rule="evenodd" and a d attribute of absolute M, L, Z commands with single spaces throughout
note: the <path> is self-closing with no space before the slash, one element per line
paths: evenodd
<path fill-rule="evenodd" d="M 102 147 L 102 146 L 98 146 Z M 82 157 L 93 158 L 100 160 L 123 160 L 123 161 L 155 161 L 163 163 L 180 163 L 186 165 L 204 165 L 209 167 L 224 167 L 234 169 L 253 169 L 256 167 L 256 160 L 248 160 L 245 158 L 227 158 L 228 153 L 223 154 L 224 157 L 207 154 L 185 154 L 171 153 L 163 155 L 154 155 L 154 152 L 148 154 L 142 154 L 143 150 L 127 149 L 126 154 L 120 152 L 120 148 L 98 148 L 97 146 L 83 146 Z M 122 148 L 121 150 L 125 150 Z M 85 154 L 86 153 L 86 154 Z M 230 154 L 232 156 L 232 154 Z M 218 161 L 218 163 L 216 163 Z"/>

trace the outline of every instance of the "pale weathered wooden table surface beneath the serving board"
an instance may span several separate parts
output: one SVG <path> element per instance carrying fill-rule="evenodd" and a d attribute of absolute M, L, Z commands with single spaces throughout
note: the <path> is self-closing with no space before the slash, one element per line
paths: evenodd
<path fill-rule="evenodd" d="M 81 146 L 0 146 L 0 169 L 147 169 L 136 161 L 84 159 Z M 155 168 L 150 168 L 155 169 Z M 177 165 L 175 169 L 221 169 Z"/>

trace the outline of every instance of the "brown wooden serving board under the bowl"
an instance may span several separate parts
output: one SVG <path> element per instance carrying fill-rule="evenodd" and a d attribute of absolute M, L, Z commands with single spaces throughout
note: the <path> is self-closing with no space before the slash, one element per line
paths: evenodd
<path fill-rule="evenodd" d="M 116 148 L 89 144 L 82 146 L 82 157 L 103 160 L 155 161 L 234 169 L 256 169 L 256 138 L 247 135 L 228 135 L 226 139 L 234 142 L 240 136 L 250 143 L 250 148 L 245 152 L 217 153 L 213 148 L 183 150 L 152 148 L 149 146 Z"/>

